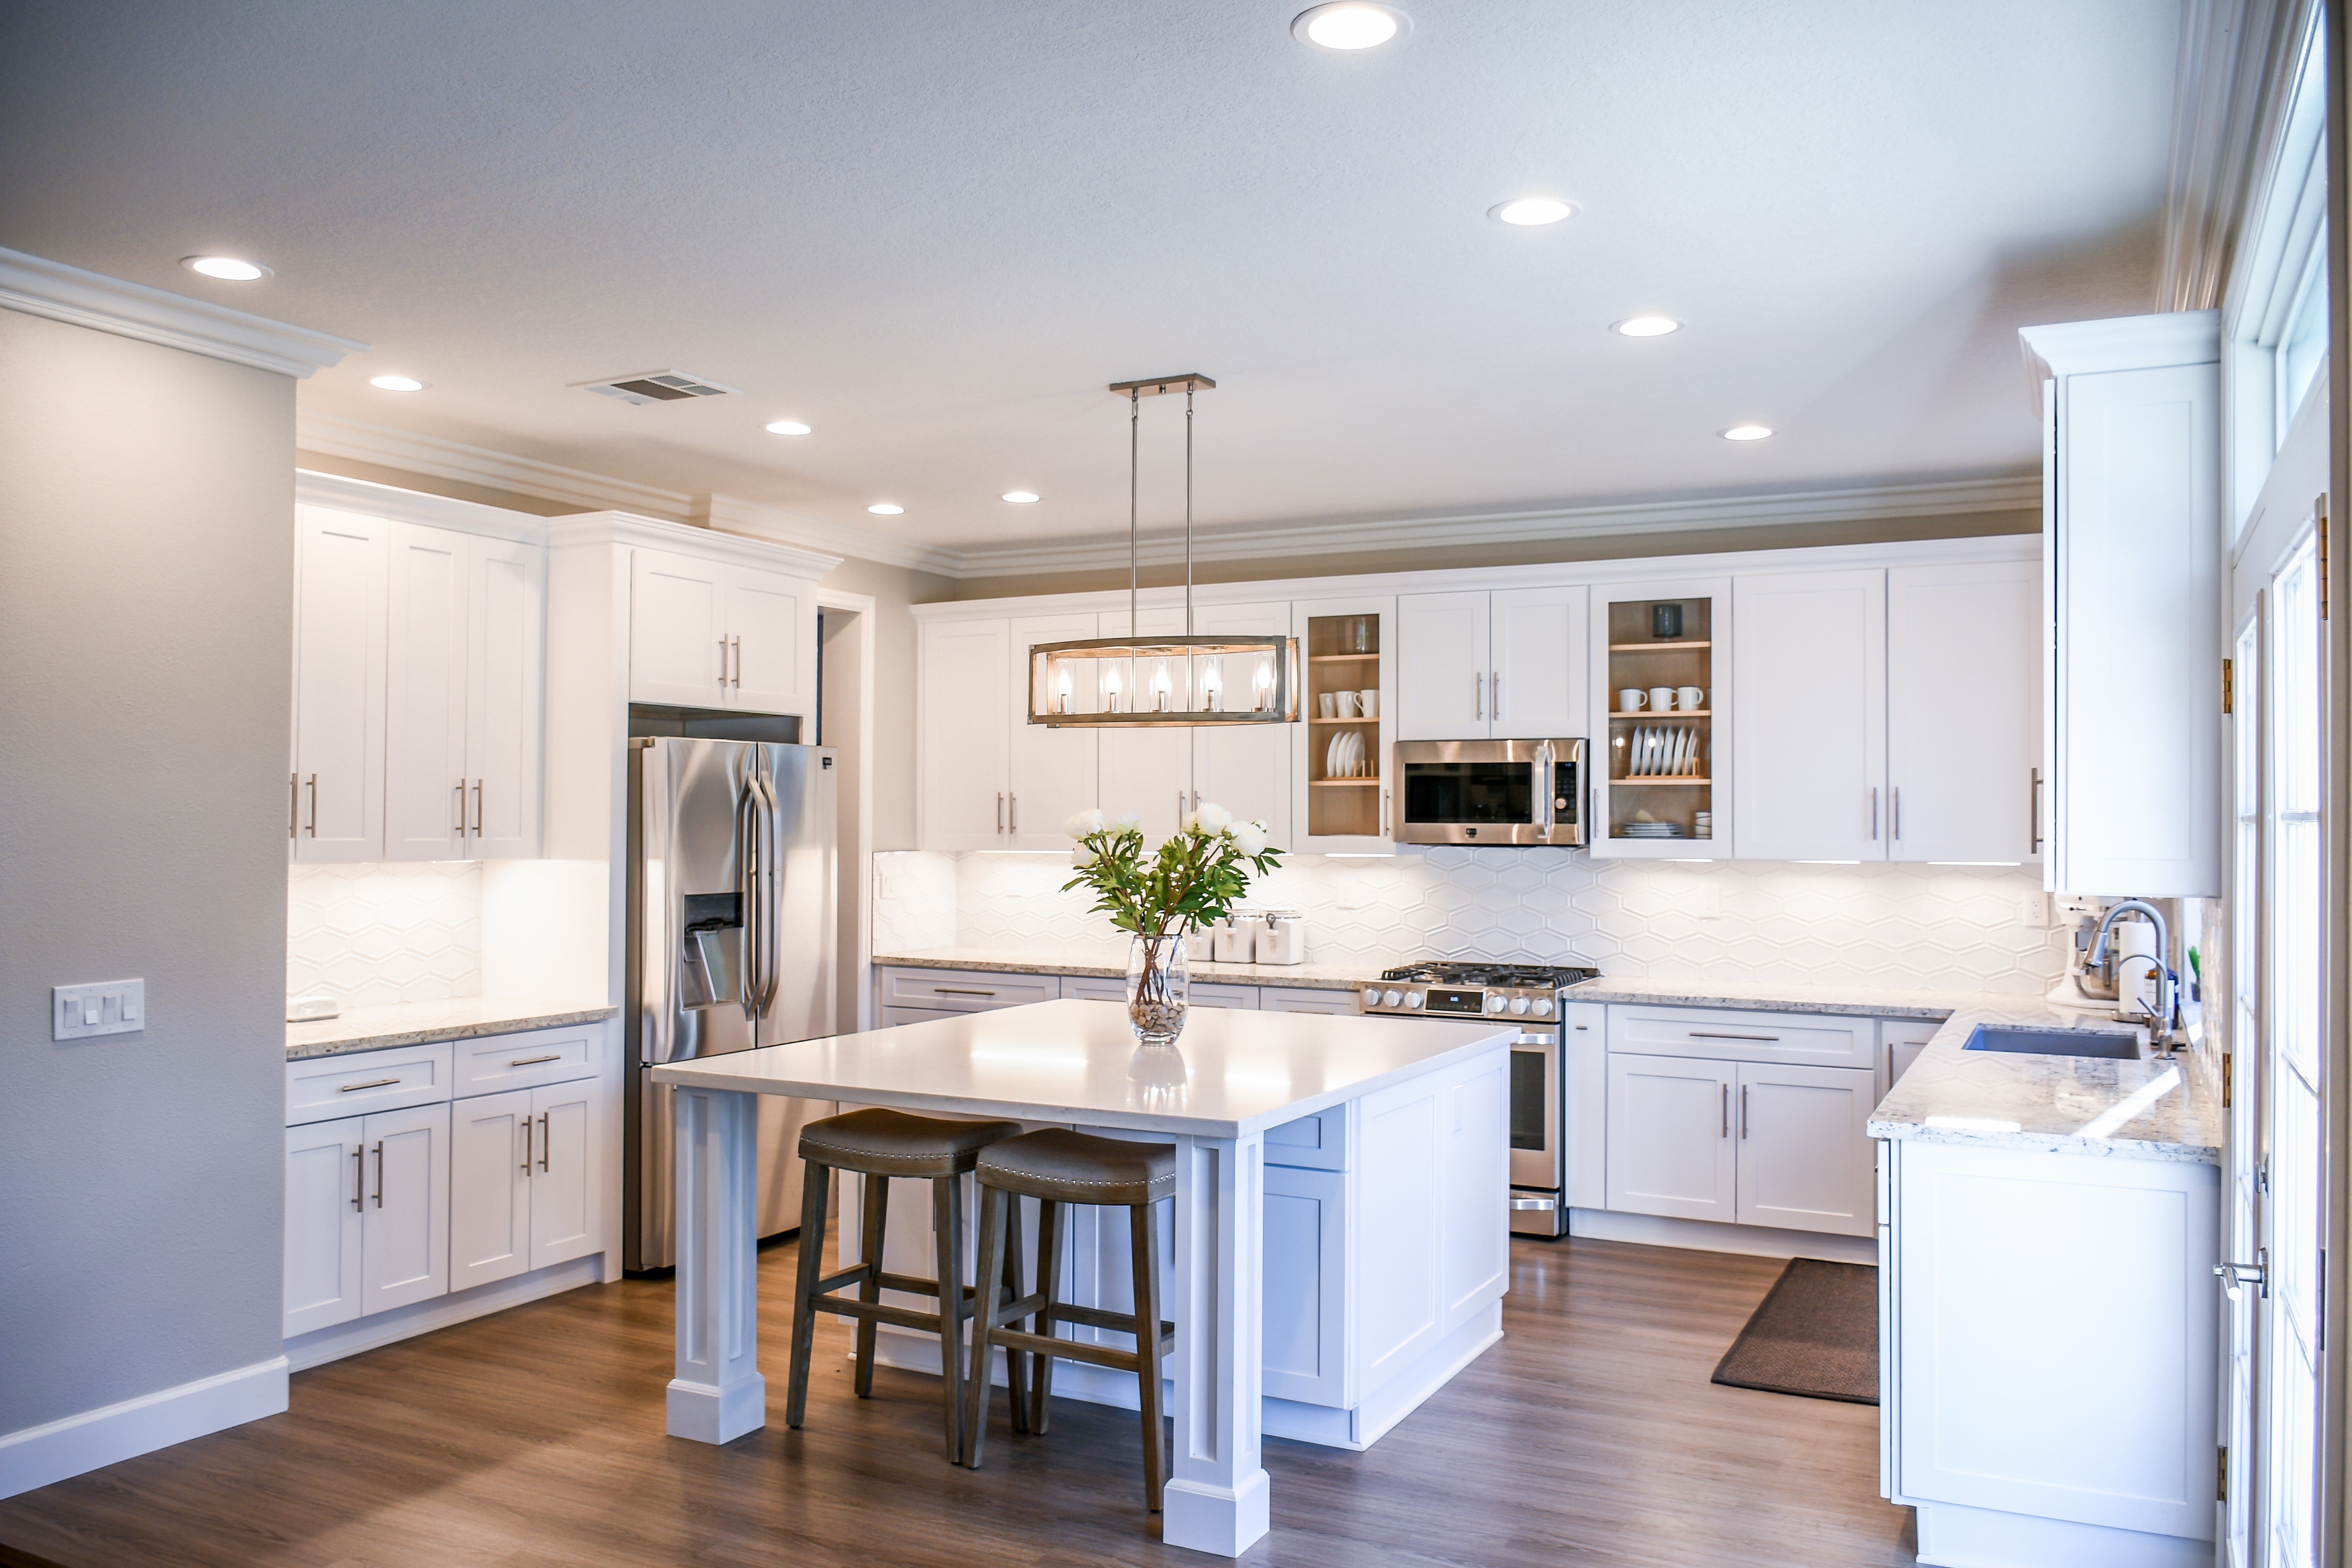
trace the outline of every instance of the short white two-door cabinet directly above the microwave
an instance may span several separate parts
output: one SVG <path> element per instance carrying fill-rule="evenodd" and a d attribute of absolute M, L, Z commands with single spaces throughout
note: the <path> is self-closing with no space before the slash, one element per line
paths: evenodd
<path fill-rule="evenodd" d="M 1399 741 L 1585 733 L 1585 588 L 1397 597 Z"/>

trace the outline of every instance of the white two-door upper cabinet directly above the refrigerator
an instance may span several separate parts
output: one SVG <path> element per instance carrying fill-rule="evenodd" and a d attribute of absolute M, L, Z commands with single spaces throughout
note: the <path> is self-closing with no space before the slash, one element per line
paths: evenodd
<path fill-rule="evenodd" d="M 814 715 L 809 583 L 640 548 L 630 557 L 628 701 Z"/>

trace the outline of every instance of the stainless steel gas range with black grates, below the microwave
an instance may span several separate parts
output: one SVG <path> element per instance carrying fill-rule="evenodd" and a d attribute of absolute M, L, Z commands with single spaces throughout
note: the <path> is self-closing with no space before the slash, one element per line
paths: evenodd
<path fill-rule="evenodd" d="M 1364 987 L 1367 1013 L 1519 1025 L 1510 1048 L 1510 1227 L 1529 1237 L 1569 1234 L 1559 992 L 1597 976 L 1583 964 L 1406 964 Z"/>

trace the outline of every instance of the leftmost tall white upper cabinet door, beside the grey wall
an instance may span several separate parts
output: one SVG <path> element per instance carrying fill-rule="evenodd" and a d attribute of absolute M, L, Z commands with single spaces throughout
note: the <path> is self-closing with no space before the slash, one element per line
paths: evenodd
<path fill-rule="evenodd" d="M 315 505 L 294 517 L 294 858 L 381 860 L 393 524 Z"/>

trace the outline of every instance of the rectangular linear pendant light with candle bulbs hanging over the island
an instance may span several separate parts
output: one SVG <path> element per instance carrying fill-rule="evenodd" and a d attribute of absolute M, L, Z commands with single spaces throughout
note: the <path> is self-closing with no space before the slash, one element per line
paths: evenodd
<path fill-rule="evenodd" d="M 1298 719 L 1298 639 L 1192 635 L 1192 393 L 1216 383 L 1200 374 L 1115 381 L 1127 397 L 1127 637 L 1040 642 L 1030 646 L 1028 722 L 1047 729 L 1200 729 L 1211 724 L 1291 724 Z M 1138 630 L 1138 458 L 1143 400 L 1183 393 L 1183 637 Z"/>

